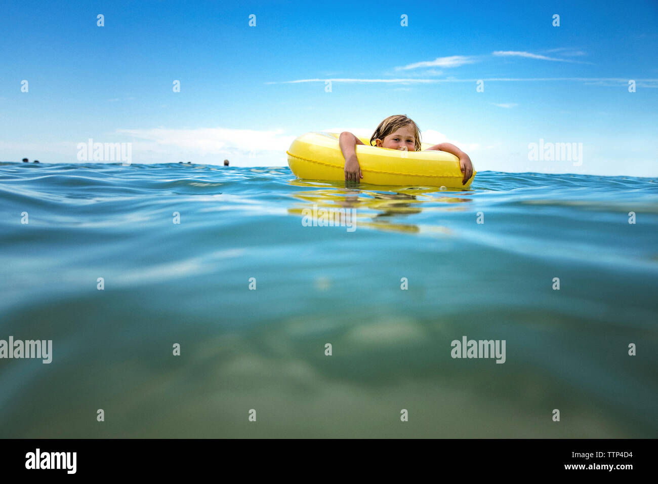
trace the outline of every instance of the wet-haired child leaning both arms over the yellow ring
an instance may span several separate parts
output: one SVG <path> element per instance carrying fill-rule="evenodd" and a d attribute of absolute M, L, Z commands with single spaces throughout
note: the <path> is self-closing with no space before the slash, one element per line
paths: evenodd
<path fill-rule="evenodd" d="M 377 129 L 370 137 L 370 146 L 379 148 L 402 149 L 403 151 L 420 151 L 420 130 L 415 122 L 405 115 L 394 115 L 379 123 Z M 359 138 L 349 131 L 343 131 L 338 138 L 338 144 L 345 157 L 345 180 L 354 182 L 363 178 L 359 160 L 357 159 L 356 146 L 363 144 Z M 464 178 L 461 184 L 465 184 L 473 175 L 473 165 L 466 153 L 449 143 L 439 143 L 428 149 L 447 151 L 459 158 L 459 167 Z"/>

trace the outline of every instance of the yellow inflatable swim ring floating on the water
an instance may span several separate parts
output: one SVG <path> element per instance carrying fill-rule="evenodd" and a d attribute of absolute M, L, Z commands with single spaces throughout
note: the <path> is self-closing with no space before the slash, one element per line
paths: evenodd
<path fill-rule="evenodd" d="M 310 132 L 296 138 L 286 153 L 288 165 L 297 178 L 307 180 L 345 180 L 345 158 L 338 145 L 338 133 Z M 401 151 L 370 146 L 370 140 L 359 138 L 357 159 L 363 178 L 373 185 L 447 186 L 468 188 L 475 176 L 461 184 L 464 175 L 459 159 L 445 151 Z M 423 143 L 426 150 L 432 146 Z"/>

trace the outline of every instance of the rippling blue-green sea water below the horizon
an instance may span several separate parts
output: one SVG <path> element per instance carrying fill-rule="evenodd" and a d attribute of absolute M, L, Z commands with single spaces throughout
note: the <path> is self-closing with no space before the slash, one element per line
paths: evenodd
<path fill-rule="evenodd" d="M 0 215 L 0 340 L 52 341 L 0 437 L 658 437 L 655 178 L 0 163 Z"/>

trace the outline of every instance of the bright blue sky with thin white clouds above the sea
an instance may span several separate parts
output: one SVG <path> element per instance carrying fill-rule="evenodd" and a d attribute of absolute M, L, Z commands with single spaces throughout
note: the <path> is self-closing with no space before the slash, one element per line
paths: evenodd
<path fill-rule="evenodd" d="M 405 114 L 478 171 L 658 176 L 653 0 L 4 1 L 2 11 L 3 161 L 79 163 L 77 145 L 92 138 L 132 144 L 132 163 L 283 166 L 304 132 L 369 137 Z M 582 143 L 582 164 L 528 159 L 540 140 Z"/>

